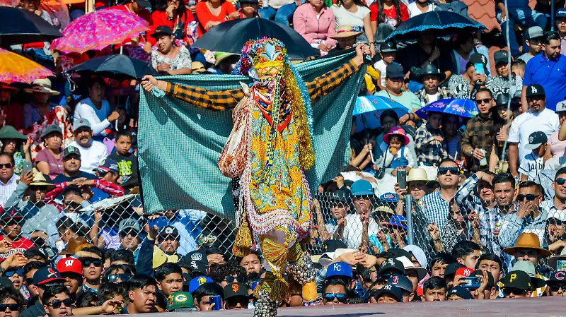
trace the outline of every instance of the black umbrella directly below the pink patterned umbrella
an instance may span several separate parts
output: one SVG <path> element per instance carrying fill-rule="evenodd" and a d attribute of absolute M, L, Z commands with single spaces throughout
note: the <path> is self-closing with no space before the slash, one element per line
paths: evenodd
<path fill-rule="evenodd" d="M 159 75 L 149 62 L 126 55 L 106 55 L 90 59 L 69 68 L 66 73 L 96 73 L 103 77 L 116 79 L 142 78 L 146 75 Z"/>

